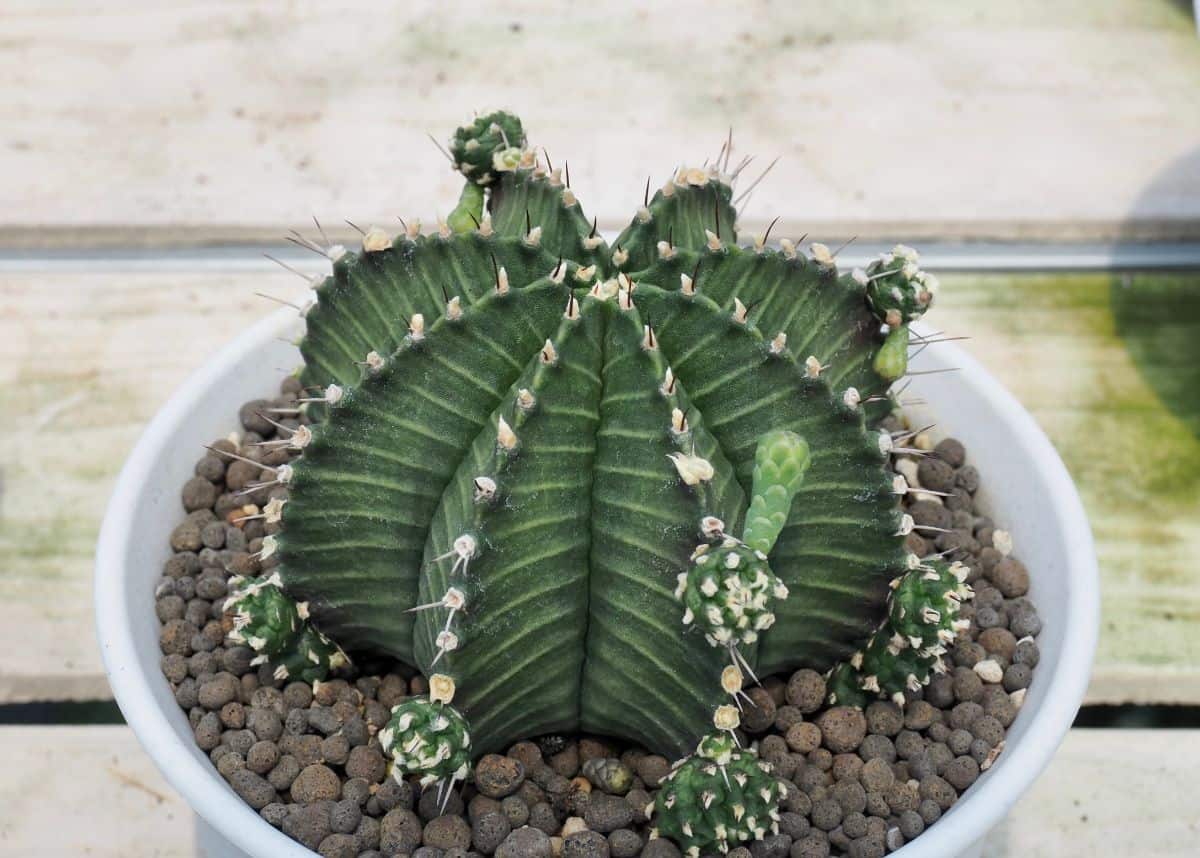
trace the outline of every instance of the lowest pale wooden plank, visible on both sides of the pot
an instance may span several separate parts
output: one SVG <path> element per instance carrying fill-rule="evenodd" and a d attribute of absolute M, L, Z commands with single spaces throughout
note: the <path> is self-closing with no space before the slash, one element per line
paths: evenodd
<path fill-rule="evenodd" d="M 0 727 L 0 755 L 6 858 L 192 854 L 191 811 L 127 727 Z M 1196 730 L 1072 731 L 984 856 L 1195 854 L 1198 767 Z"/>

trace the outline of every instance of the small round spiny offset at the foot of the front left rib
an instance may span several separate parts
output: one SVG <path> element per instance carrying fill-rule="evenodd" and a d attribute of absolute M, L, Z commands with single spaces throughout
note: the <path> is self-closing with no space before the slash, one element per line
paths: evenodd
<path fill-rule="evenodd" d="M 466 780 L 470 772 L 467 720 L 449 703 L 413 697 L 392 707 L 379 745 L 392 758 L 392 776 L 420 775 L 421 786 Z"/>

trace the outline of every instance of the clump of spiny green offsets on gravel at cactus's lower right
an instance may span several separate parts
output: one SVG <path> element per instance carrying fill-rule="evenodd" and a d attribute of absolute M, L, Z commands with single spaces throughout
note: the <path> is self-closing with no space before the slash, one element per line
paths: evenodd
<path fill-rule="evenodd" d="M 865 706 L 875 697 L 904 702 L 905 691 L 917 691 L 946 671 L 942 655 L 967 625 L 958 619 L 960 605 L 973 595 L 964 583 L 967 570 L 959 563 L 913 560 L 896 582 L 884 623 L 862 652 L 830 674 L 830 702 Z"/>

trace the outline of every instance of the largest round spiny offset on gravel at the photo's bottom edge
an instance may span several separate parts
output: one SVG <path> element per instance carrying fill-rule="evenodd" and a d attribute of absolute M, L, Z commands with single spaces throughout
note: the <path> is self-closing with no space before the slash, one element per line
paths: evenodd
<path fill-rule="evenodd" d="M 653 805 L 654 828 L 691 858 L 714 848 L 728 852 L 736 844 L 779 832 L 785 794 L 754 751 L 737 750 L 725 736 L 709 737 L 662 780 Z"/>

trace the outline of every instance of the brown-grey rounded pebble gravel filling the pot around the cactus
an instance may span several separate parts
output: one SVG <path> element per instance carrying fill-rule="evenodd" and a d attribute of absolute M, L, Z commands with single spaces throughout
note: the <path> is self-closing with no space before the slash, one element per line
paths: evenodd
<path fill-rule="evenodd" d="M 174 553 L 157 584 L 162 672 L 221 776 L 266 822 L 329 858 L 678 858 L 673 842 L 649 839 L 644 812 L 671 769 L 662 756 L 601 737 L 532 737 L 479 760 L 472 782 L 439 815 L 436 788 L 389 776 L 376 738 L 392 706 L 427 691 L 424 677 L 360 660 L 328 682 L 284 683 L 251 667 L 248 648 L 226 641 L 229 577 L 275 562 L 254 553 L 278 526 L 239 520 L 287 496 L 281 486 L 239 492 L 271 479 L 259 466 L 290 458 L 287 449 L 257 444 L 287 436 L 276 436 L 275 424 L 304 420 L 289 412 L 299 394 L 289 377 L 276 398 L 247 402 L 244 431 L 214 442 L 197 462 L 182 487 L 187 517 L 170 534 Z M 884 427 L 904 430 L 895 418 Z M 779 834 L 733 850 L 734 858 L 894 851 L 934 824 L 1003 750 L 1038 662 L 1042 623 L 1026 596 L 1028 572 L 1009 535 L 976 510 L 980 478 L 962 444 L 934 446 L 926 434 L 905 444 L 925 455 L 899 458 L 896 470 L 910 486 L 947 494 L 906 496 L 917 524 L 908 548 L 944 552 L 970 568 L 976 599 L 962 616 L 971 628 L 947 655 L 949 672 L 904 706 L 826 707 L 824 679 L 810 670 L 749 689 L 743 743 L 757 744 L 787 797 Z"/>

